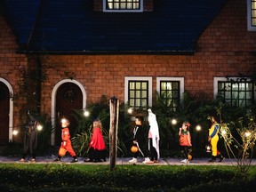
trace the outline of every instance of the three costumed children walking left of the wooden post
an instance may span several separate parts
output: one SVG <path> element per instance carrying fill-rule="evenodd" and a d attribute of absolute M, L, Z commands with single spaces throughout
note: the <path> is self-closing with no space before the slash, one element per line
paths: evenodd
<path fill-rule="evenodd" d="M 30 117 L 30 116 L 29 116 Z M 30 118 L 31 119 L 31 118 Z M 38 122 L 35 118 L 31 119 L 28 126 L 26 127 L 24 134 L 24 149 L 23 156 L 20 162 L 26 161 L 26 156 L 32 155 L 31 162 L 36 162 L 36 147 L 37 147 L 37 131 L 36 125 Z M 70 163 L 78 162 L 76 152 L 72 147 L 72 142 L 70 140 L 69 126 L 70 122 L 68 118 L 61 119 L 61 144 L 58 152 L 58 157 L 54 159 L 54 162 L 60 162 L 61 158 L 65 156 L 68 152 L 73 160 Z M 89 143 L 89 159 L 84 159 L 84 162 L 106 162 L 106 146 L 102 134 L 102 124 L 100 119 L 95 119 L 93 121 L 92 127 L 92 138 Z"/>

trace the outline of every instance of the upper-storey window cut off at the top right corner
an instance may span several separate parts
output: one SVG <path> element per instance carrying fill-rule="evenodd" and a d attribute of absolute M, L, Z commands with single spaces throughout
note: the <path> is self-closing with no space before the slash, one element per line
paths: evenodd
<path fill-rule="evenodd" d="M 247 28 L 256 31 L 256 0 L 247 0 Z"/>

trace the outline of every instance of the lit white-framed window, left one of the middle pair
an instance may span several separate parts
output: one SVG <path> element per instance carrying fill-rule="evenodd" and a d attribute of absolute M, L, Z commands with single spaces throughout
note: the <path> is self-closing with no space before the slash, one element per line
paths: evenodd
<path fill-rule="evenodd" d="M 152 106 L 152 77 L 125 77 L 124 100 L 132 108 Z"/>

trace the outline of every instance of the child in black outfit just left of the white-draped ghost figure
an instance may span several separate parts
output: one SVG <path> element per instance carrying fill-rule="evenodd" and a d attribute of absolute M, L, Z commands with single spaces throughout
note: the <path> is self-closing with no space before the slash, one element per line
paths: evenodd
<path fill-rule="evenodd" d="M 143 152 L 140 148 L 140 147 L 142 147 L 142 143 L 143 143 L 142 122 L 143 122 L 143 117 L 142 116 L 136 116 L 135 126 L 134 126 L 134 129 L 133 129 L 132 145 L 137 146 L 139 148 L 139 150 L 136 153 L 133 153 L 133 157 L 129 161 L 129 163 L 132 163 L 132 164 L 137 163 L 137 157 L 139 156 L 139 153 L 141 153 L 141 155 L 144 156 L 144 154 L 143 154 Z"/>

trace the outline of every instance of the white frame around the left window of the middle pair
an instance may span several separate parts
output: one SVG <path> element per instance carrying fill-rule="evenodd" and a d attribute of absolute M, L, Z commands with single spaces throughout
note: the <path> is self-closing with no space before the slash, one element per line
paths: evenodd
<path fill-rule="evenodd" d="M 152 107 L 152 77 L 151 76 L 125 76 L 124 77 L 124 102 L 128 102 L 129 81 L 148 81 L 148 106 Z"/>

